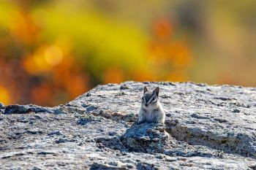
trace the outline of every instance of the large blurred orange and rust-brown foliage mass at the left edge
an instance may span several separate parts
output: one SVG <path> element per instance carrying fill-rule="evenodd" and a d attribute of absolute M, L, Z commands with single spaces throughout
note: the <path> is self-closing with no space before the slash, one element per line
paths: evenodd
<path fill-rule="evenodd" d="M 54 106 L 84 93 L 89 87 L 87 74 L 75 61 L 67 45 L 44 45 L 40 28 L 23 8 L 10 25 L 9 39 L 23 48 L 12 59 L 12 41 L 0 43 L 0 101 L 4 104 L 39 104 Z M 58 44 L 58 43 L 56 43 Z M 32 48 L 31 48 L 32 47 Z M 20 59 L 21 58 L 21 59 Z M 20 59 L 20 60 L 18 60 Z"/>

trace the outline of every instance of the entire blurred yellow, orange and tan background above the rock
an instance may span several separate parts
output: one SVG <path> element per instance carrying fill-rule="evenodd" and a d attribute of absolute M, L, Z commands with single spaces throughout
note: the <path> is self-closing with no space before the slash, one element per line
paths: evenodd
<path fill-rule="evenodd" d="M 256 86 L 256 1 L 0 0 L 0 102 L 108 82 Z"/>

